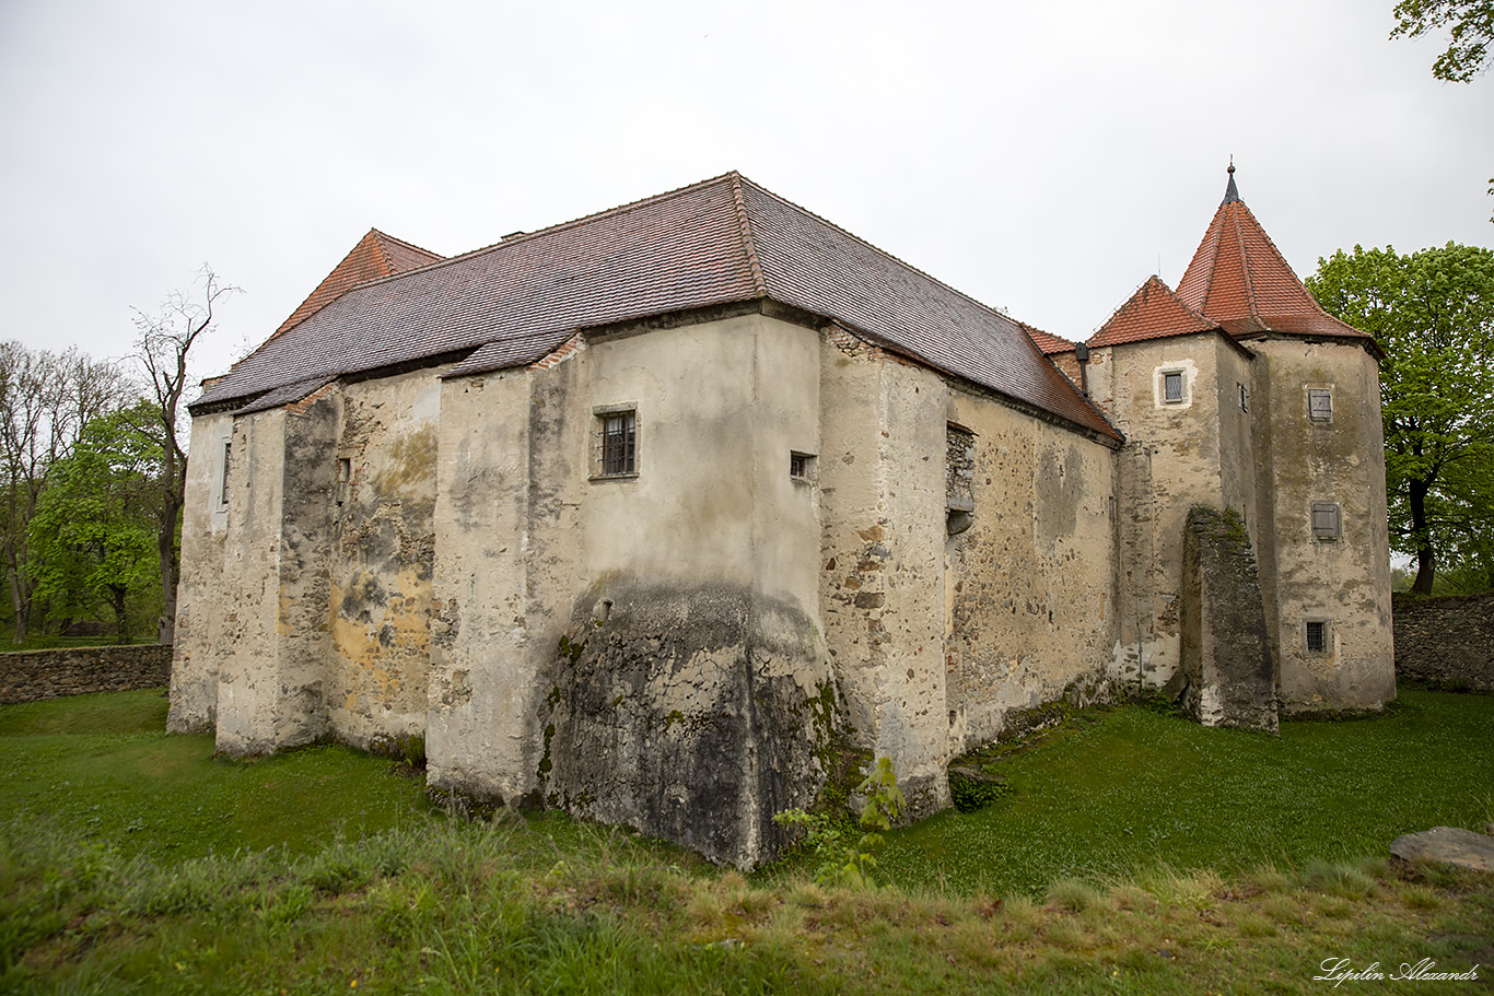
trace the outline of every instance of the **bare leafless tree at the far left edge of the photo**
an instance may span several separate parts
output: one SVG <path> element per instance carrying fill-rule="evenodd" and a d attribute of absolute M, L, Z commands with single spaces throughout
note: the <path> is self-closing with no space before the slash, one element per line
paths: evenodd
<path fill-rule="evenodd" d="M 15 644 L 25 642 L 31 626 L 28 533 L 46 473 L 72 452 L 88 420 L 117 411 L 131 396 L 128 379 L 108 360 L 76 349 L 55 354 L 19 342 L 0 343 L 0 551 Z"/>

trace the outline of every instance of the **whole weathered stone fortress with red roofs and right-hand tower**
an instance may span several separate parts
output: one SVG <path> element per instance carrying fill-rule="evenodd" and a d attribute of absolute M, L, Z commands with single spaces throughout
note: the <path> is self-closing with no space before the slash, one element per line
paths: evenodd
<path fill-rule="evenodd" d="M 453 258 L 369 231 L 191 405 L 170 727 L 783 844 L 1026 711 L 1395 694 L 1377 346 L 1240 200 L 1076 343 L 728 173 Z"/>

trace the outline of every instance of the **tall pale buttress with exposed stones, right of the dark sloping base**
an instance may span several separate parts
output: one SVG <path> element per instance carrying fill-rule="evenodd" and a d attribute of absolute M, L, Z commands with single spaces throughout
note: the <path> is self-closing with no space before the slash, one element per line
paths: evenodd
<path fill-rule="evenodd" d="M 925 815 L 949 806 L 949 393 L 840 332 L 820 355 L 825 638 L 858 745 L 893 760 L 910 815 Z"/>

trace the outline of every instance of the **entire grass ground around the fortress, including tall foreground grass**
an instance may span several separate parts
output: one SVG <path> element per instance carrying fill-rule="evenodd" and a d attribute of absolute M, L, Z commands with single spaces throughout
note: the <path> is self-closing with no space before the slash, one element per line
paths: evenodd
<path fill-rule="evenodd" d="M 0 708 L 3 993 L 1494 992 L 1494 881 L 1391 838 L 1494 820 L 1494 697 L 1276 738 L 1122 706 L 889 835 L 889 888 L 744 878 L 563 817 L 466 821 L 338 747 L 167 736 L 160 693 Z M 1479 968 L 1475 969 L 1473 966 Z"/>

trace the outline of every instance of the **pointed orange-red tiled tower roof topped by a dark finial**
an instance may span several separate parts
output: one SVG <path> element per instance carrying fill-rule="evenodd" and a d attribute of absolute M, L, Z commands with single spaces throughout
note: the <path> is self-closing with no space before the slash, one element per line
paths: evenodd
<path fill-rule="evenodd" d="M 1224 203 L 1177 284 L 1177 297 L 1236 337 L 1283 332 L 1370 339 L 1325 312 L 1307 293 L 1240 200 L 1233 166 Z"/>

